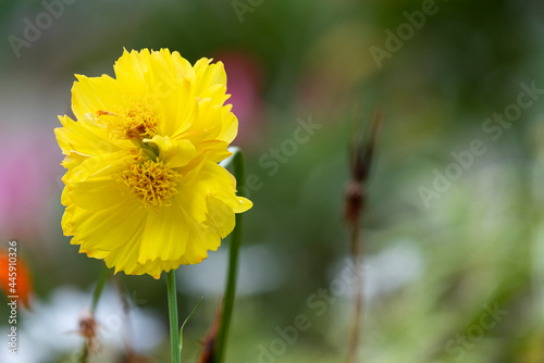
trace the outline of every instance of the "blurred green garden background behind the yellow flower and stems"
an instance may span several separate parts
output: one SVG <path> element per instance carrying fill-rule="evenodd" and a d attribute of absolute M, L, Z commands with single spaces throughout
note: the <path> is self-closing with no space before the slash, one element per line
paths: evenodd
<path fill-rule="evenodd" d="M 384 123 L 361 223 L 360 362 L 544 362 L 544 95 L 522 86 L 544 88 L 544 4 L 432 3 L 2 0 L 0 247 L 17 239 L 34 299 L 20 309 L 20 354 L 2 342 L 0 361 L 75 362 L 83 345 L 77 322 L 102 263 L 62 236 L 53 135 L 74 74 L 113 75 L 123 48 L 169 48 L 225 63 L 235 143 L 254 175 L 227 362 L 345 361 L 348 150 L 374 109 Z M 403 27 L 405 12 L 424 9 L 421 26 Z M 399 26 L 405 39 L 392 40 Z M 388 52 L 379 62 L 378 48 Z M 511 122 L 489 121 L 515 113 L 519 97 L 533 102 Z M 294 143 L 301 124 L 314 128 Z M 485 152 L 452 166 L 474 140 Z M 460 173 L 437 182 L 448 167 Z M 181 315 L 205 298 L 185 330 L 186 362 L 213 321 L 227 250 L 178 271 Z M 165 296 L 164 277 L 112 279 L 92 362 L 128 362 L 129 351 L 166 362 Z M 1 303 L 5 340 L 8 313 Z"/>

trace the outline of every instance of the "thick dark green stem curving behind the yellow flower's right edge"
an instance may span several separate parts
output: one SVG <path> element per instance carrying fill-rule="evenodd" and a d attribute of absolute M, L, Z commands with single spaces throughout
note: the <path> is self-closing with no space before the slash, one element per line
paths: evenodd
<path fill-rule="evenodd" d="M 237 180 L 238 196 L 244 197 L 246 171 L 244 165 L 244 154 L 236 149 L 232 159 L 233 174 Z M 231 237 L 231 251 L 228 256 L 228 275 L 226 278 L 225 296 L 223 300 L 223 311 L 218 329 L 218 339 L 214 353 L 214 362 L 222 363 L 225 358 L 226 340 L 234 308 L 234 297 L 236 295 L 236 275 L 238 272 L 238 252 L 242 241 L 242 214 L 236 214 L 236 225 Z"/>

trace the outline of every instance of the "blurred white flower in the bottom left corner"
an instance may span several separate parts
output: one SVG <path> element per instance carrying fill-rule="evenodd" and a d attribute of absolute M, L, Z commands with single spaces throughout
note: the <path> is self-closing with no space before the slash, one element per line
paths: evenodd
<path fill-rule="evenodd" d="M 36 301 L 32 311 L 20 310 L 17 355 L 1 349 L 0 362 L 57 362 L 61 354 L 70 356 L 66 363 L 77 362 L 84 345 L 84 338 L 78 334 L 79 321 L 89 316 L 91 296 L 90 292 L 63 286 L 52 291 L 48 302 Z M 96 358 L 100 362 L 109 361 L 102 360 L 103 356 L 125 352 L 125 342 L 137 353 L 149 352 L 165 336 L 165 327 L 156 313 L 132 305 L 124 311 L 122 299 L 113 289 L 104 289 L 95 321 L 99 347 Z M 9 326 L 0 327 L 0 335 L 5 337 L 9 329 Z"/>

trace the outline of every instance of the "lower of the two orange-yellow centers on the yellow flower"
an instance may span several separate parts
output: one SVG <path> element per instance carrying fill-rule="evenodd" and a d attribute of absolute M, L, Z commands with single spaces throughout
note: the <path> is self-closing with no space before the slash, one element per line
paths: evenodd
<path fill-rule="evenodd" d="M 180 177 L 178 173 L 164 166 L 162 161 L 152 160 L 132 163 L 121 174 L 125 186 L 146 208 L 171 205 L 170 200 L 177 193 L 176 180 Z"/>

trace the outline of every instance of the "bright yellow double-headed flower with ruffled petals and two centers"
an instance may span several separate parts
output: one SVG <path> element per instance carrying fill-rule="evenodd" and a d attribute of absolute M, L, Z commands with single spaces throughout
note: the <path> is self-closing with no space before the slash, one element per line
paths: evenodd
<path fill-rule="evenodd" d="M 223 103 L 223 64 L 194 66 L 169 50 L 126 50 L 108 75 L 76 75 L 60 116 L 64 235 L 115 272 L 149 274 L 195 264 L 251 208 L 218 162 L 238 124 Z"/>

